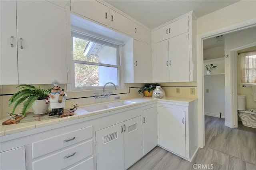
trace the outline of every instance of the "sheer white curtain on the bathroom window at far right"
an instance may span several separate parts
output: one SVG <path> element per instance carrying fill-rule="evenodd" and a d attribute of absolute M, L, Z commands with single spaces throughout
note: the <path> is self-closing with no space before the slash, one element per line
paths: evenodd
<path fill-rule="evenodd" d="M 256 51 L 240 53 L 240 83 L 256 83 Z"/>

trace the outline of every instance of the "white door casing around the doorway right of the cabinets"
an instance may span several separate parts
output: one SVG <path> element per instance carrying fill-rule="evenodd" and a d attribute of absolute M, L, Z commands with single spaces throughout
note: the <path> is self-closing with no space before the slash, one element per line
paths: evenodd
<path fill-rule="evenodd" d="M 203 40 L 244 30 L 256 26 L 256 19 L 247 20 L 240 22 L 228 27 L 220 28 L 211 32 L 197 35 L 197 77 L 198 77 L 198 146 L 203 148 L 205 145 L 205 134 L 204 134 L 204 70 L 203 70 Z M 228 123 L 225 126 L 230 127 Z"/>

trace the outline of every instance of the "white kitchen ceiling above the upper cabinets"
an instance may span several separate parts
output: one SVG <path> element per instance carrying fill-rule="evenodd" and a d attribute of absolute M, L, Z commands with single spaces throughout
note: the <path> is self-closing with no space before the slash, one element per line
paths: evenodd
<path fill-rule="evenodd" d="M 190 11 L 199 18 L 239 0 L 104 0 L 150 29 Z"/>

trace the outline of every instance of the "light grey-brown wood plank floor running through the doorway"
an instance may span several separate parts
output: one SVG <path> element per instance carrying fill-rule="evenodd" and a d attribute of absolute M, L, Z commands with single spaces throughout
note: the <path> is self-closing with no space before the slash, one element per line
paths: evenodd
<path fill-rule="evenodd" d="M 129 170 L 256 170 L 256 129 L 240 121 L 238 128 L 224 123 L 225 119 L 205 116 L 205 147 L 192 162 L 156 146 Z"/>

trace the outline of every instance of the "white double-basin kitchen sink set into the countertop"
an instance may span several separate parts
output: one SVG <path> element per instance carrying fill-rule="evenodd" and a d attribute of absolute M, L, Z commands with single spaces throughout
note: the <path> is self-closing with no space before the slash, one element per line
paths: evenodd
<path fill-rule="evenodd" d="M 91 106 L 86 106 L 86 107 L 81 107 L 81 109 L 84 109 L 85 111 L 88 112 L 93 112 L 93 111 L 100 111 L 104 109 L 110 109 L 114 107 L 120 107 L 124 105 L 131 105 L 134 104 L 133 102 L 129 101 L 116 101 L 116 102 L 111 102 L 111 103 L 104 103 L 104 104 L 99 104 L 99 105 L 91 105 Z"/>

